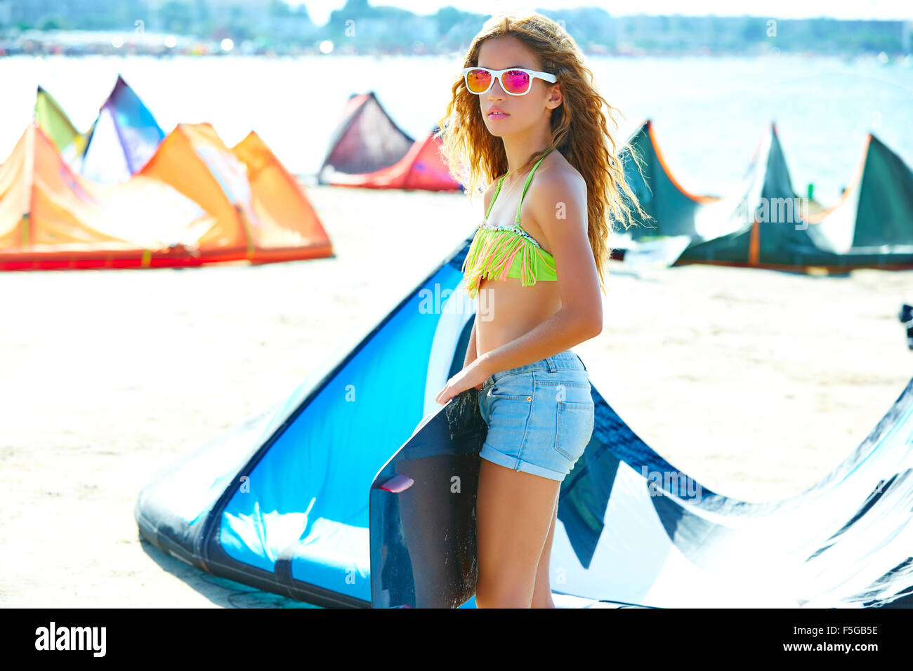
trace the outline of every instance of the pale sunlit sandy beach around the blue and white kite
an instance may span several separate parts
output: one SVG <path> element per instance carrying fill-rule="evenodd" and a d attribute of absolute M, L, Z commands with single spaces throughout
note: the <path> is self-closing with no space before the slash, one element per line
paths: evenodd
<path fill-rule="evenodd" d="M 156 470 L 288 396 L 481 217 L 463 194 L 307 194 L 336 257 L 0 274 L 0 605 L 308 606 L 164 555 L 133 519 Z M 913 375 L 913 271 L 638 275 L 611 264 L 603 332 L 574 349 L 637 434 L 721 494 L 810 487 Z"/>

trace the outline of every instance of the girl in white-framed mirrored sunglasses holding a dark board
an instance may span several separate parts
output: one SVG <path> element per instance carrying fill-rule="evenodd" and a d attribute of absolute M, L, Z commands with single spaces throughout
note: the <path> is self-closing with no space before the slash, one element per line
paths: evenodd
<path fill-rule="evenodd" d="M 478 389 L 488 425 L 479 608 L 554 607 L 558 494 L 593 434 L 589 373 L 570 348 L 603 328 L 607 217 L 628 226 L 623 191 L 645 217 L 603 114 L 603 105 L 610 118 L 614 108 L 582 59 L 545 16 L 494 16 L 473 39 L 438 123 L 451 170 L 468 166 L 458 175 L 467 193 L 491 181 L 486 221 L 463 264 L 467 295 L 478 299 L 466 362 L 436 397 L 446 404 Z"/>

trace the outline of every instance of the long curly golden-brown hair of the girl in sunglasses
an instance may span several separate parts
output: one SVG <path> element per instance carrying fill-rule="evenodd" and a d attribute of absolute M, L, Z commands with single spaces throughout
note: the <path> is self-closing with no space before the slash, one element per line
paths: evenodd
<path fill-rule="evenodd" d="M 498 175 L 507 173 L 509 166 L 504 145 L 488 132 L 482 119 L 478 96 L 470 93 L 462 77 L 462 68 L 478 65 L 482 43 L 492 37 L 512 36 L 521 40 L 541 62 L 541 69 L 558 79 L 563 100 L 551 112 L 551 145 L 530 156 L 529 161 L 515 173 L 521 173 L 552 149 L 561 152 L 568 163 L 581 173 L 587 189 L 587 236 L 593 248 L 593 258 L 599 273 L 600 289 L 605 293 L 603 266 L 612 255 L 609 244 L 611 220 L 624 225 L 625 230 L 635 223 L 631 208 L 643 219 L 650 218 L 624 179 L 624 162 L 619 152 L 629 151 L 636 160 L 634 148 L 618 147 L 606 119 L 618 130 L 613 111 L 593 79 L 593 71 L 583 65 L 583 55 L 577 43 L 557 23 L 537 12 L 514 12 L 492 16 L 469 45 L 460 77 L 453 85 L 453 97 L 447 103 L 446 115 L 437 122 L 441 139 L 441 155 L 447 169 L 463 184 L 472 202 L 479 181 L 488 184 Z M 608 115 L 603 113 L 603 106 Z M 624 118 L 624 114 L 622 114 Z M 606 142 L 607 141 L 607 142 Z M 610 146 L 611 145 L 611 146 Z M 639 170 L 639 166 L 638 166 Z"/>

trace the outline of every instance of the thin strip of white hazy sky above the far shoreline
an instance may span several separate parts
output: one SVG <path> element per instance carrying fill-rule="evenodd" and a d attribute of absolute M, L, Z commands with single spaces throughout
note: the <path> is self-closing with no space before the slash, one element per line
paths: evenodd
<path fill-rule="evenodd" d="M 301 4 L 299 0 L 286 0 L 289 5 Z M 345 0 L 304 0 L 315 24 L 322 26 L 334 9 L 345 5 Z M 568 9 L 572 7 L 600 6 L 609 14 L 684 14 L 702 16 L 767 16 L 770 18 L 805 18 L 808 16 L 833 16 L 834 18 L 875 18 L 913 20 L 913 2 L 910 0 L 855 0 L 837 3 L 834 0 L 690 0 L 683 7 L 681 0 L 640 0 L 616 2 L 615 0 L 545 0 L 522 3 L 516 0 L 369 0 L 370 5 L 402 7 L 416 14 L 434 14 L 440 7 L 455 6 L 467 12 L 496 14 L 518 8 Z"/>

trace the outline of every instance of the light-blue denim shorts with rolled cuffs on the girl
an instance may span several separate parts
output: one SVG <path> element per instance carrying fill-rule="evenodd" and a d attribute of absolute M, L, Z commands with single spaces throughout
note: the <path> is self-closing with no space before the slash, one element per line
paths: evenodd
<path fill-rule="evenodd" d="M 571 350 L 489 375 L 478 392 L 488 425 L 478 456 L 563 480 L 593 435 L 591 389 L 590 373 Z"/>

